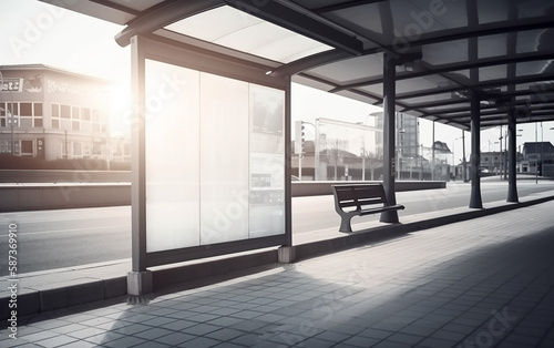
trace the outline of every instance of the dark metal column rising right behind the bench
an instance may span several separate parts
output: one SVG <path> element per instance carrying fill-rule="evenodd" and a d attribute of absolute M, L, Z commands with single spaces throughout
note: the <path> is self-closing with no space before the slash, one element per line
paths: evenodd
<path fill-rule="evenodd" d="M 389 52 L 383 59 L 383 186 L 390 205 L 397 204 L 394 193 L 394 98 L 396 98 L 396 59 Z M 398 213 L 381 213 L 381 223 L 398 223 Z"/>

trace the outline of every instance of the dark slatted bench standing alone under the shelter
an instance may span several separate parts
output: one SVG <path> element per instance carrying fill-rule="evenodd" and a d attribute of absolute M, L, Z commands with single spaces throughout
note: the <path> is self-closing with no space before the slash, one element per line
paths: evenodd
<path fill-rule="evenodd" d="M 382 184 L 332 185 L 335 209 L 340 215 L 340 232 L 352 232 L 352 216 L 363 216 L 403 209 L 401 204 L 389 205 Z M 379 205 L 379 206 L 375 206 Z"/>

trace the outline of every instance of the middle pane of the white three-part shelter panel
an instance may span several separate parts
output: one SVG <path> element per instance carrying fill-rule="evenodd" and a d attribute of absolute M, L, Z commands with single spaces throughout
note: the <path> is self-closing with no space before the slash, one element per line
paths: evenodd
<path fill-rule="evenodd" d="M 246 239 L 248 84 L 201 76 L 201 244 Z"/>

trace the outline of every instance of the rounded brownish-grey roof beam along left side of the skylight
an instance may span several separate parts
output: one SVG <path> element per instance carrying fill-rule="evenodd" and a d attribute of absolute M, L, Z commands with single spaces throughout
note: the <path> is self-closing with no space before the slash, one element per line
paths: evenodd
<path fill-rule="evenodd" d="M 135 18 L 127 27 L 115 35 L 115 42 L 121 47 L 131 43 L 131 38 L 137 34 L 152 33 L 184 18 L 223 6 L 222 0 L 165 1 L 151 11 Z"/>

